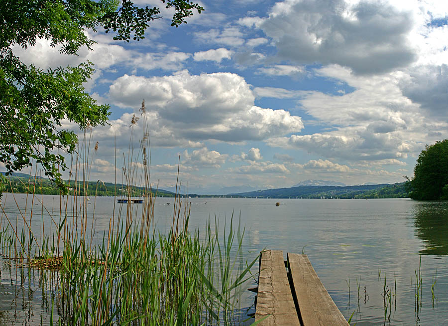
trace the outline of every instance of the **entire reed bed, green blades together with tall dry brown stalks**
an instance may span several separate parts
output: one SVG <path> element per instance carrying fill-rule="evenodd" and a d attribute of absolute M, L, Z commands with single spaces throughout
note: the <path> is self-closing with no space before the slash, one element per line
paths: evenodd
<path fill-rule="evenodd" d="M 150 191 L 153 187 L 149 182 L 151 159 L 147 135 L 145 130 L 140 151 L 135 154 L 131 149 L 123 168 L 127 197 L 131 197 L 135 184 L 143 184 L 143 204 L 128 201 L 118 209 L 114 207 L 109 227 L 100 240 L 94 236 L 96 197 L 93 206 L 92 203 L 88 206 L 87 196 L 79 195 L 87 193 L 88 163 L 95 155 L 89 154 L 88 144 L 77 149 L 84 157 L 72 159 L 70 172 L 75 178 L 75 196 L 69 200 L 61 195 L 56 213 L 35 193 L 36 177 L 30 177 L 26 184 L 31 203 L 41 205 L 39 232 L 30 223 L 36 214 L 34 206 L 22 211 L 15 201 L 19 214 L 14 221 L 0 205 L 2 261 L 23 277 L 27 273 L 28 277 L 30 273 L 37 274 L 51 325 L 180 326 L 241 322 L 237 307 L 240 289 L 252 277 L 250 269 L 258 259 L 250 262 L 244 259 L 244 228 L 240 223 L 234 228 L 232 215 L 229 227 L 225 223 L 221 232 L 219 219 L 215 218 L 214 226 L 210 221 L 206 223 L 205 239 L 201 238 L 199 230 L 189 230 L 190 206 L 177 195 L 170 230 L 158 232 L 154 222 L 156 193 Z M 131 141 L 132 137 L 131 133 Z M 87 133 L 84 138 L 90 139 Z M 136 164 L 134 156 L 142 163 Z M 97 182 L 97 189 L 101 185 L 102 182 Z M 12 187 L 7 195 L 15 196 Z M 44 212 L 50 217 L 50 225 L 44 223 Z M 37 233 L 42 234 L 41 239 L 36 239 Z M 57 316 L 53 316 L 54 312 Z"/>

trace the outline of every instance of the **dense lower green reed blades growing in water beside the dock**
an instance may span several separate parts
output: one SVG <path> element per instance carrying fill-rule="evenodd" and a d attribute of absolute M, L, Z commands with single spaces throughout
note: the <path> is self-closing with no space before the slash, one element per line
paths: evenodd
<path fill-rule="evenodd" d="M 232 325 L 238 289 L 251 277 L 257 258 L 242 264 L 244 231 L 240 225 L 233 230 L 233 216 L 223 242 L 218 221 L 215 232 L 207 223 L 203 241 L 198 231 L 188 231 L 189 213 L 184 209 L 178 214 L 168 234 L 147 228 L 144 219 L 123 221 L 119 228 L 113 228 L 111 219 L 96 245 L 83 233 L 66 229 L 65 236 L 46 237 L 37 247 L 26 232 L 8 225 L 0 232 L 1 256 L 18 270 L 57 280 L 55 286 L 45 280 L 41 286 L 43 292 L 57 293 L 53 302 L 61 325 Z M 58 232 L 67 221 L 58 225 Z M 78 226 L 86 230 L 83 222 Z M 57 238 L 63 239 L 62 249 Z"/>

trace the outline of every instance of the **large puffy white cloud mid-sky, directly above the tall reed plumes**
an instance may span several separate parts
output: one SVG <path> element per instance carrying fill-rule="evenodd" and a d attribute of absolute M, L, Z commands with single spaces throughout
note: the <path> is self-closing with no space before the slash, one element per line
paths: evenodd
<path fill-rule="evenodd" d="M 303 128 L 301 118 L 288 111 L 254 106 L 249 85 L 232 73 L 124 75 L 113 82 L 109 96 L 126 108 L 139 107 L 144 98 L 151 124 L 178 139 L 195 142 L 264 140 Z"/>

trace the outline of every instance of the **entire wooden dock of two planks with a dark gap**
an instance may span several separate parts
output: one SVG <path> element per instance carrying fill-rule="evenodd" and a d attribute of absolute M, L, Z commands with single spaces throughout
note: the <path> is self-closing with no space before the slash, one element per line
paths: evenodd
<path fill-rule="evenodd" d="M 258 326 L 348 326 L 307 255 L 264 250 L 255 301 Z"/>

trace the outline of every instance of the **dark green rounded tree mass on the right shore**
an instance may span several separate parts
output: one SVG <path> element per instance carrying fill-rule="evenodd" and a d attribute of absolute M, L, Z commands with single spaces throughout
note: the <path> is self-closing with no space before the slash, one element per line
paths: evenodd
<path fill-rule="evenodd" d="M 448 199 L 448 139 L 426 145 L 410 182 L 412 199 Z"/>

